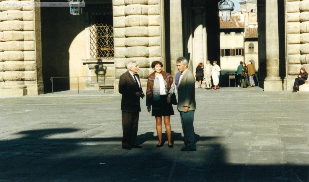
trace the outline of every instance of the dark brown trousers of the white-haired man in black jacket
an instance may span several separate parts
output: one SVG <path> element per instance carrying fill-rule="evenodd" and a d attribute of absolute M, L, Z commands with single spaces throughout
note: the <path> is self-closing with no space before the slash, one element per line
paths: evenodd
<path fill-rule="evenodd" d="M 122 146 L 133 145 L 136 141 L 138 130 L 138 112 L 122 111 Z"/>

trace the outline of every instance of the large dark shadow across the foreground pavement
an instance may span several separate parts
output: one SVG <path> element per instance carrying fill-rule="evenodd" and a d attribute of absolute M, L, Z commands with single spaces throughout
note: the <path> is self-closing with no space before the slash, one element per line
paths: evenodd
<path fill-rule="evenodd" d="M 138 136 L 142 149 L 123 150 L 121 137 L 74 138 L 75 128 L 19 132 L 0 141 L 0 181 L 308 181 L 307 165 L 227 163 L 219 137 L 197 136 L 196 152 L 149 144 L 153 132 Z M 166 136 L 163 135 L 163 138 Z"/>

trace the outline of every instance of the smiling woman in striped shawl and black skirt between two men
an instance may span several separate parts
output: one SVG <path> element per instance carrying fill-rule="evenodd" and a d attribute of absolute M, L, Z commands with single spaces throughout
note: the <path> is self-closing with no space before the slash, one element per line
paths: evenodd
<path fill-rule="evenodd" d="M 151 64 L 154 70 L 148 76 L 147 81 L 147 99 L 146 106 L 148 112 L 151 111 L 151 116 L 155 116 L 157 134 L 159 143 L 156 147 L 162 147 L 162 116 L 167 134 L 168 147 L 172 148 L 171 141 L 171 124 L 170 117 L 174 115 L 174 110 L 171 104 L 171 96 L 174 93 L 175 85 L 171 74 L 162 71 L 163 64 L 160 61 L 154 61 Z"/>

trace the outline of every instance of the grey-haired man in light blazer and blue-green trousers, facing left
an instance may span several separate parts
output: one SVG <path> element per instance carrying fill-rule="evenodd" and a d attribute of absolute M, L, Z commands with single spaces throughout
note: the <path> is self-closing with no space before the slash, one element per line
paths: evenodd
<path fill-rule="evenodd" d="M 196 141 L 194 136 L 194 110 L 195 102 L 195 79 L 193 73 L 188 70 L 188 60 L 180 57 L 176 60 L 178 71 L 181 72 L 178 83 L 178 111 L 182 130 L 184 132 L 185 147 L 181 151 L 196 151 Z"/>

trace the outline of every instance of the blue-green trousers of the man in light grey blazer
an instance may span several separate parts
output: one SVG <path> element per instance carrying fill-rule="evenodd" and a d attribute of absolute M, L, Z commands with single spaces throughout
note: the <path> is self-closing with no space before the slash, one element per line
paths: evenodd
<path fill-rule="evenodd" d="M 196 149 L 196 141 L 194 136 L 194 110 L 184 113 L 180 112 L 182 131 L 184 132 L 184 145 L 186 148 Z"/>

